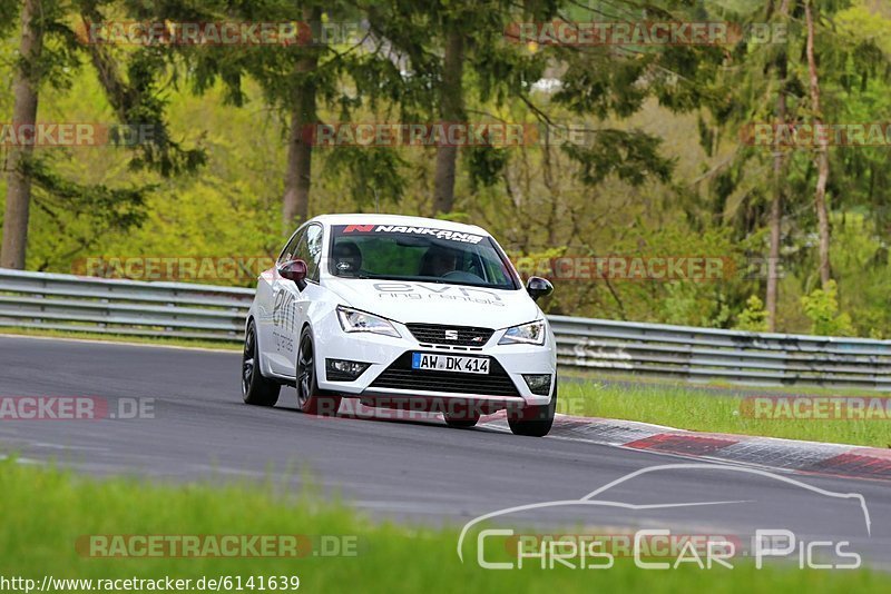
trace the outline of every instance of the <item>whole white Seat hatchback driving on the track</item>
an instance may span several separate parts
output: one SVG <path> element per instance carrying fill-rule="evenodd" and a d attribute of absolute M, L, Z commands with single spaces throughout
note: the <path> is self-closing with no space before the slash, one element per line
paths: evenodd
<path fill-rule="evenodd" d="M 486 230 L 393 215 L 325 215 L 264 271 L 246 321 L 242 392 L 273 406 L 296 387 L 304 413 L 341 398 L 442 413 L 454 427 L 507 409 L 518 435 L 546 435 L 557 403 L 554 333 Z M 419 406 L 420 405 L 420 406 Z"/>

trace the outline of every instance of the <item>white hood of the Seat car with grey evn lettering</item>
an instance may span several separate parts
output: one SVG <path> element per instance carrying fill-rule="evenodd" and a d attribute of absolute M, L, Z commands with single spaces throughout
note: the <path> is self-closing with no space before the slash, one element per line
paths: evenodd
<path fill-rule="evenodd" d="M 325 288 L 344 305 L 409 323 L 507 328 L 542 317 L 529 295 L 466 285 L 327 278 Z"/>

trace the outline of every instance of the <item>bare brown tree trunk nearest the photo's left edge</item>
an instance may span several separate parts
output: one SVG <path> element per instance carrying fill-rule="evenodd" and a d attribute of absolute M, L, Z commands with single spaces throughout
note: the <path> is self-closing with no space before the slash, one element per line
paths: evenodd
<path fill-rule="evenodd" d="M 37 60 L 43 47 L 43 29 L 38 19 L 39 0 L 26 0 L 21 10 L 21 61 L 12 82 L 14 106 L 12 125 L 33 126 L 37 121 L 37 91 L 39 73 Z M 7 170 L 7 206 L 3 218 L 3 246 L 0 250 L 0 267 L 25 268 L 25 251 L 28 246 L 28 210 L 31 202 L 31 179 L 22 171 L 22 165 L 33 152 L 33 146 L 13 146 L 9 150 Z"/>

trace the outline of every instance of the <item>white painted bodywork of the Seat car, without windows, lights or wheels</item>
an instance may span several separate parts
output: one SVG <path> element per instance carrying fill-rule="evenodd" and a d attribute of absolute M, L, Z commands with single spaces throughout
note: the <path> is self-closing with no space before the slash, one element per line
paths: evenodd
<path fill-rule="evenodd" d="M 297 343 L 302 329 L 309 325 L 316 352 L 314 360 L 319 388 L 322 390 L 363 398 L 404 395 L 487 400 L 490 404 L 516 402 L 518 398 L 523 405 L 545 405 L 550 402 L 557 372 L 554 334 L 544 313 L 525 288 L 505 290 L 446 283 L 342 278 L 329 271 L 332 226 L 400 225 L 491 237 L 487 231 L 474 226 L 393 215 L 326 215 L 311 219 L 301 229 L 311 224 L 320 224 L 324 229 L 319 281 L 307 281 L 305 288 L 300 290 L 295 283 L 282 278 L 275 268 L 264 271 L 258 278 L 248 319 L 253 318 L 257 326 L 260 369 L 265 377 L 283 383 L 294 380 Z M 512 274 L 518 277 L 516 269 Z M 386 318 L 401 337 L 366 331 L 346 333 L 337 319 L 337 306 Z M 498 345 L 509 327 L 535 320 L 545 320 L 544 345 Z M 444 344 L 422 347 L 405 326 L 413 323 L 490 328 L 495 333 L 488 341 L 472 349 Z M 507 372 L 518 396 L 372 387 L 375 378 L 407 352 L 491 357 Z M 353 382 L 329 382 L 326 358 L 371 365 Z M 550 374 L 550 395 L 532 394 L 521 374 Z M 456 374 L 456 379 L 470 380 L 466 374 Z"/>

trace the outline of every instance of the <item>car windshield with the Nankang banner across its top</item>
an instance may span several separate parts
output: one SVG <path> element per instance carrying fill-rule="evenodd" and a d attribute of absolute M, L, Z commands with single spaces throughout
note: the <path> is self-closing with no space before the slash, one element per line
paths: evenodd
<path fill-rule="evenodd" d="M 519 288 L 490 237 L 431 227 L 334 226 L 329 271 L 342 278 Z"/>

